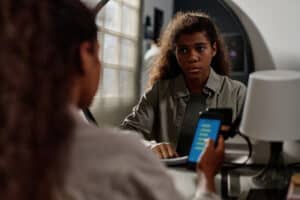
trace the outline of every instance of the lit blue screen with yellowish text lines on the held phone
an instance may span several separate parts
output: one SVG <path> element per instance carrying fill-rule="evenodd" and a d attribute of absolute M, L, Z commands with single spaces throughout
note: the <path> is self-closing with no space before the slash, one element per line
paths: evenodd
<path fill-rule="evenodd" d="M 190 162 L 198 161 L 199 156 L 205 147 L 206 139 L 211 138 L 216 141 L 220 126 L 221 120 L 208 118 L 199 119 L 188 158 Z"/>

